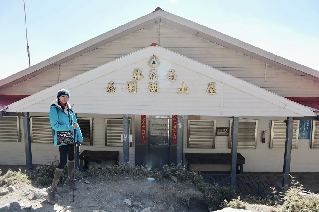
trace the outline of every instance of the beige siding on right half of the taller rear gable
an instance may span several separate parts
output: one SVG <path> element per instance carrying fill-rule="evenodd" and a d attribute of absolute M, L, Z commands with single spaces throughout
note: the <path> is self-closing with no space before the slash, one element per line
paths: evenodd
<path fill-rule="evenodd" d="M 318 97 L 319 83 L 160 23 L 160 46 L 284 97 Z"/>

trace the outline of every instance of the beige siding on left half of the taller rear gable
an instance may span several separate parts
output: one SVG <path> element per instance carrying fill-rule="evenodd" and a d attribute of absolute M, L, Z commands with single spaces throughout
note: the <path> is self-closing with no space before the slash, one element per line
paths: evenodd
<path fill-rule="evenodd" d="M 154 24 L 128 36 L 101 46 L 60 65 L 60 82 L 104 65 L 134 51 L 158 43 L 158 24 Z M 31 79 L 0 91 L 0 94 L 32 95 L 58 84 L 58 68 L 39 74 Z"/>

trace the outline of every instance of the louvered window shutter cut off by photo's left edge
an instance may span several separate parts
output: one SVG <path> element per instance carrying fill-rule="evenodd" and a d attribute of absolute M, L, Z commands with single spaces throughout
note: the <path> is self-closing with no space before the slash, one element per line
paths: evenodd
<path fill-rule="evenodd" d="M 19 117 L 0 117 L 0 142 L 21 142 Z"/>

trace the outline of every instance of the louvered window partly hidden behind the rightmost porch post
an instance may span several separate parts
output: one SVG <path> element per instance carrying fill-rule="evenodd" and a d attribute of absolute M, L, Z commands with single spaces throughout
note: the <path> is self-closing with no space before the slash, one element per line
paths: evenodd
<path fill-rule="evenodd" d="M 298 134 L 299 121 L 293 121 L 293 149 L 298 148 Z M 271 121 L 271 137 L 270 148 L 271 149 L 284 149 L 286 145 L 286 130 L 287 126 L 284 120 L 272 120 Z"/>

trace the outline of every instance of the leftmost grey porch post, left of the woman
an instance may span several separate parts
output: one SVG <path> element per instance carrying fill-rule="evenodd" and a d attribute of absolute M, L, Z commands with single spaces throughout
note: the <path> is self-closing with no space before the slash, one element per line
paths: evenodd
<path fill-rule="evenodd" d="M 32 167 L 32 151 L 31 151 L 31 131 L 29 113 L 23 113 L 23 135 L 24 146 L 26 151 L 26 168 Z"/>

